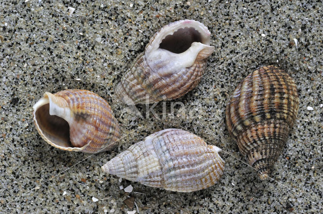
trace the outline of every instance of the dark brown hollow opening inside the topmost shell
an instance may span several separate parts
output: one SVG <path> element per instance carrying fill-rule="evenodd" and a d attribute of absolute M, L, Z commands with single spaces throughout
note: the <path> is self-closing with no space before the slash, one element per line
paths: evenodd
<path fill-rule="evenodd" d="M 166 36 L 159 44 L 159 48 L 173 53 L 183 53 L 191 47 L 193 42 L 203 43 L 201 34 L 193 27 L 181 28 L 173 35 Z"/>

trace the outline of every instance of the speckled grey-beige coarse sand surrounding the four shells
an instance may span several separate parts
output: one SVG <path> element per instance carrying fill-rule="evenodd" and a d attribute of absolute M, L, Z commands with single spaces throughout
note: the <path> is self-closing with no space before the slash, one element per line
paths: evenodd
<path fill-rule="evenodd" d="M 319 2 L 1 1 L 0 213 L 127 213 L 137 210 L 123 202 L 129 196 L 140 213 L 322 213 Z M 71 16 L 68 7 L 76 9 Z M 146 118 L 144 105 L 137 106 L 144 115 L 138 117 L 115 99 L 113 89 L 149 38 L 180 19 L 198 20 L 212 34 L 216 49 L 207 74 L 176 100 L 185 106 L 175 106 L 175 116 L 160 115 L 159 103 L 154 108 L 159 117 Z M 224 121 L 228 94 L 254 69 L 268 64 L 284 68 L 300 93 L 297 121 L 272 174 L 276 181 L 260 181 L 240 161 L 244 157 Z M 125 135 L 118 147 L 89 157 L 41 139 L 32 123 L 32 106 L 44 92 L 66 88 L 93 91 L 111 104 Z M 170 105 L 166 102 L 168 110 Z M 218 184 L 176 193 L 120 183 L 101 171 L 102 164 L 143 137 L 172 127 L 186 128 L 225 151 L 226 169 Z M 121 185 L 134 190 L 126 193 Z"/>

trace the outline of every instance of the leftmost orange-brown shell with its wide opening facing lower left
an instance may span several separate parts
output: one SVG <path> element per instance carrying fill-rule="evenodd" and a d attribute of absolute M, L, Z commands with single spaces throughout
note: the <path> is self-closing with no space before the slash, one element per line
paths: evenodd
<path fill-rule="evenodd" d="M 33 109 L 40 136 L 61 150 L 103 152 L 117 144 L 120 136 L 109 104 L 87 90 L 46 92 Z"/>

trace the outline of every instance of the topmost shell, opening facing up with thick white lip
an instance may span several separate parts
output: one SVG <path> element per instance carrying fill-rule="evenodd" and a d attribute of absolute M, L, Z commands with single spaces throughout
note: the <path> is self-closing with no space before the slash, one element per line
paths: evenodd
<path fill-rule="evenodd" d="M 200 82 L 214 47 L 200 22 L 180 20 L 161 28 L 137 56 L 116 88 L 126 104 L 179 98 Z"/>

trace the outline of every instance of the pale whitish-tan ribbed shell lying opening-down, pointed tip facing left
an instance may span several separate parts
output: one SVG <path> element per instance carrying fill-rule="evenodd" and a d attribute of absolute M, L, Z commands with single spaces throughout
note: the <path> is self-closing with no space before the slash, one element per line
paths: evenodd
<path fill-rule="evenodd" d="M 137 142 L 102 170 L 151 187 L 192 192 L 220 179 L 225 165 L 220 151 L 188 131 L 164 129 Z"/>

